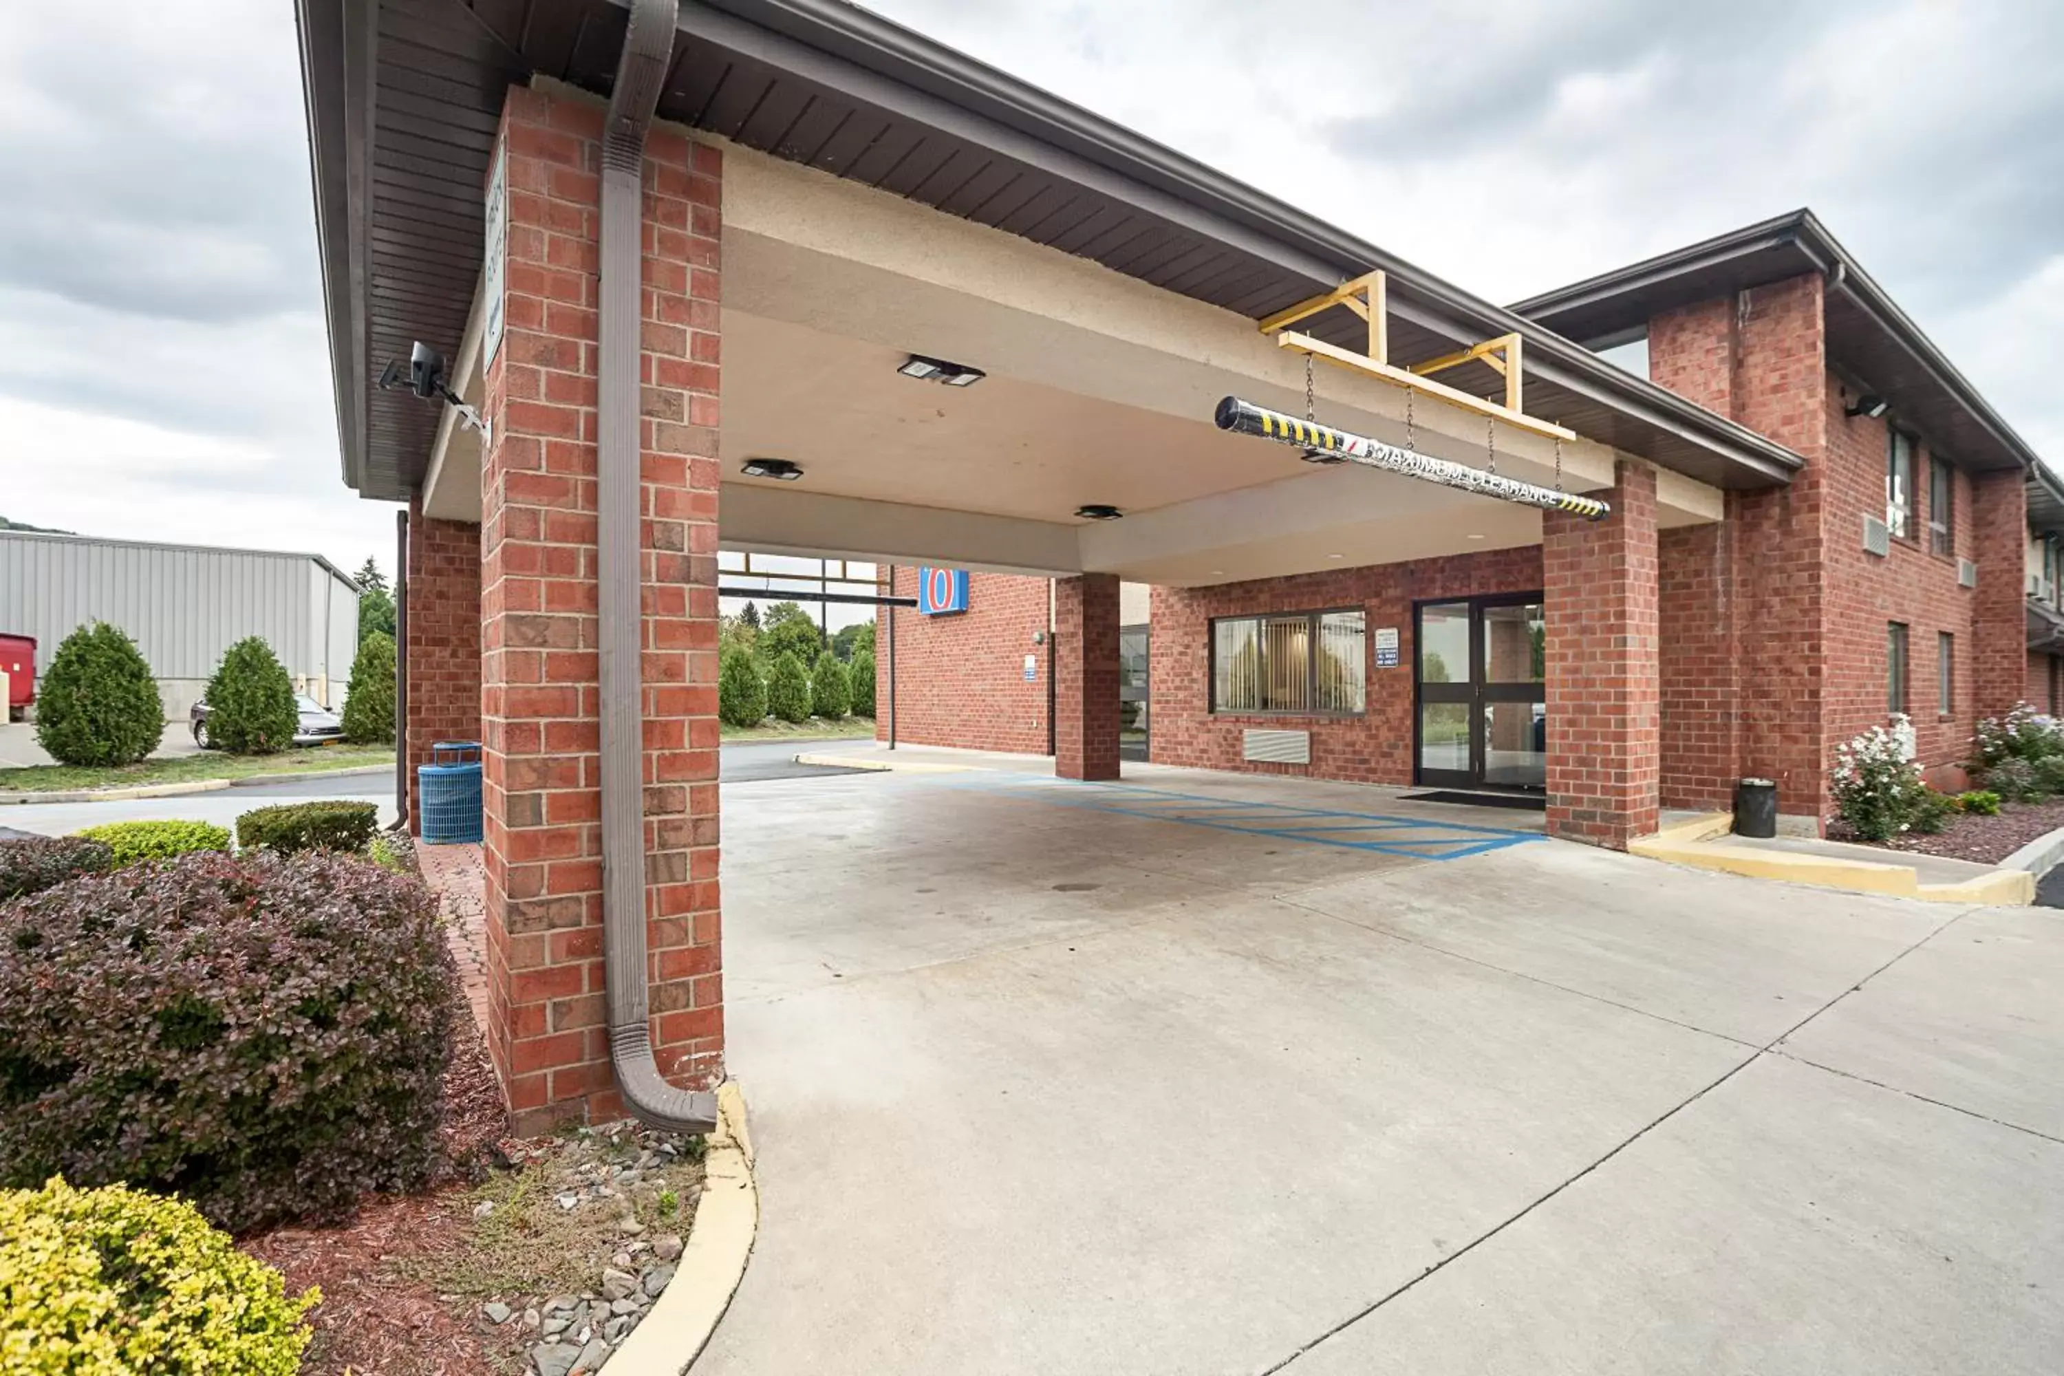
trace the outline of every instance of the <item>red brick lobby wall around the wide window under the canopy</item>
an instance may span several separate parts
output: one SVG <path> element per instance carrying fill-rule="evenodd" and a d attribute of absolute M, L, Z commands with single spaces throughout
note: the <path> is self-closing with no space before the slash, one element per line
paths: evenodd
<path fill-rule="evenodd" d="M 1490 592 L 1540 592 L 1542 551 L 1498 549 L 1480 555 L 1416 559 L 1373 567 L 1329 569 L 1216 588 L 1154 588 L 1152 668 L 1154 763 L 1251 774 L 1298 774 L 1358 784 L 1412 782 L 1412 604 L 1428 598 L 1468 598 Z M 1364 708 L 1360 714 L 1298 714 L 1212 710 L 1214 621 L 1296 613 L 1360 611 L 1364 635 Z M 1375 668 L 1375 633 L 1397 629 L 1397 666 Z M 1290 625 L 1284 623 L 1288 650 Z M 1325 627 L 1321 627 L 1323 646 Z M 1335 625 L 1335 650 L 1354 644 L 1346 621 Z M 1238 646 L 1234 646 L 1234 652 Z M 1300 679 L 1298 691 L 1311 691 Z M 1288 687 L 1288 685 L 1286 685 Z M 1337 701 L 1337 697 L 1335 697 Z M 1311 730 L 1311 765 L 1249 763 L 1240 759 L 1249 726 Z M 1550 730 L 1554 726 L 1550 724 Z"/>

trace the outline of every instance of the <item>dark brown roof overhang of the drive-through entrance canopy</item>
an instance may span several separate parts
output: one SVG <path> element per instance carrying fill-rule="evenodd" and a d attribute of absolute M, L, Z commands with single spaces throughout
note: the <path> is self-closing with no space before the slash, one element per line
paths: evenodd
<path fill-rule="evenodd" d="M 510 83 L 605 93 L 619 0 L 297 0 L 345 481 L 402 499 L 433 408 L 372 378 L 415 338 L 456 347 Z M 658 113 L 906 196 L 1253 320 L 1383 268 L 1391 359 L 1517 332 L 1527 411 L 1721 489 L 1802 460 L 1294 206 L 838 0 L 683 2 Z M 1311 332 L 1354 342 L 1360 322 Z"/>

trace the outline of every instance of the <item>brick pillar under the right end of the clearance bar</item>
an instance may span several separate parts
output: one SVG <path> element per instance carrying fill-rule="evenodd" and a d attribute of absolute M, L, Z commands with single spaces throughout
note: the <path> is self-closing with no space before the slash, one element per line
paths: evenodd
<path fill-rule="evenodd" d="M 1624 850 L 1655 829 L 1655 470 L 1620 460 L 1612 516 L 1542 516 L 1548 833 Z"/>

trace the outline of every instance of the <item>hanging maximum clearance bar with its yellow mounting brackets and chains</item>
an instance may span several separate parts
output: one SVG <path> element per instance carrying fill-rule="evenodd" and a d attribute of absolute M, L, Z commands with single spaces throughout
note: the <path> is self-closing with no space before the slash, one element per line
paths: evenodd
<path fill-rule="evenodd" d="M 1313 338 L 1309 334 L 1298 334 L 1288 326 L 1317 316 L 1319 312 L 1331 307 L 1346 307 L 1368 322 L 1368 353 L 1360 355 L 1340 345 L 1329 345 L 1323 338 Z M 1340 429 L 1329 429 L 1317 425 L 1311 415 L 1302 421 L 1288 417 L 1280 411 L 1269 411 L 1267 406 L 1257 406 L 1253 402 L 1228 396 L 1218 402 L 1218 427 L 1228 431 L 1238 431 L 1245 435 L 1259 435 L 1263 439 L 1280 439 L 1282 444 L 1294 444 L 1307 452 L 1321 452 L 1335 456 L 1340 460 L 1356 462 L 1368 468 L 1385 468 L 1389 472 L 1404 472 L 1408 477 L 1426 479 L 1430 483 L 1441 483 L 1445 487 L 1457 487 L 1470 493 L 1482 493 L 1486 497 L 1498 497 L 1503 501 L 1519 501 L 1523 505 L 1542 507 L 1544 512 L 1571 512 L 1583 516 L 1585 520 L 1604 520 L 1612 514 L 1612 507 L 1598 497 L 1577 497 L 1560 491 L 1562 481 L 1562 441 L 1577 439 L 1577 433 L 1556 425 L 1554 421 L 1542 421 L 1529 417 L 1521 411 L 1523 400 L 1523 371 L 1521 371 L 1521 347 L 1523 338 L 1519 334 L 1501 334 L 1498 338 L 1472 345 L 1468 349 L 1457 349 L 1455 353 L 1445 353 L 1437 359 L 1426 359 L 1424 363 L 1414 363 L 1412 367 L 1397 367 L 1389 361 L 1389 279 L 1383 272 L 1366 272 L 1354 281 L 1342 283 L 1333 291 L 1321 293 L 1307 301 L 1298 301 L 1288 309 L 1280 309 L 1261 322 L 1263 334 L 1273 334 L 1276 342 L 1284 349 L 1292 349 L 1304 355 L 1304 396 L 1307 413 L 1311 411 L 1311 363 L 1313 359 L 1323 359 L 1337 367 L 1346 367 L 1358 373 L 1381 378 L 1393 386 L 1406 390 L 1406 425 L 1410 431 L 1410 398 L 1412 394 L 1424 394 L 1457 406 L 1461 411 L 1474 411 L 1488 419 L 1488 441 L 1490 468 L 1470 468 L 1468 464 L 1453 464 L 1441 458 L 1426 458 L 1416 450 L 1416 446 L 1406 444 L 1406 448 L 1395 448 L 1366 435 L 1354 435 Z M 1441 373 L 1451 367 L 1461 367 L 1463 363 L 1482 363 L 1494 373 L 1505 378 L 1505 398 L 1488 400 L 1476 396 L 1474 392 L 1463 392 L 1461 388 L 1451 388 L 1443 382 L 1434 382 L 1430 373 Z M 1536 483 L 1519 483 L 1515 479 L 1501 477 L 1496 472 L 1496 425 L 1513 425 L 1515 429 L 1531 431 L 1536 435 L 1546 435 L 1556 441 L 1556 487 L 1540 487 Z"/>

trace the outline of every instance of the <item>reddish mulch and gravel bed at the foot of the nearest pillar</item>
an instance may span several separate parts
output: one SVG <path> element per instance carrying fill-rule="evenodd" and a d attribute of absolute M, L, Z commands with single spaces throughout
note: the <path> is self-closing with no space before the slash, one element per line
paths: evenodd
<path fill-rule="evenodd" d="M 415 864 L 407 838 L 388 838 Z M 454 1013 L 440 1168 L 336 1227 L 239 1246 L 322 1287 L 301 1376 L 557 1376 L 607 1362 L 673 1277 L 702 1194 L 702 1143 L 636 1124 L 510 1139 L 473 1013 Z"/>

